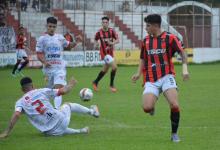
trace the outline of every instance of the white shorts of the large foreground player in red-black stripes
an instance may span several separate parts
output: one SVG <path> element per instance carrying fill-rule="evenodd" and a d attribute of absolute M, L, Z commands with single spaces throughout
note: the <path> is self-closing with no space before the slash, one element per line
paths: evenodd
<path fill-rule="evenodd" d="M 159 97 L 161 92 L 166 91 L 170 88 L 177 88 L 176 81 L 173 75 L 168 74 L 156 82 L 146 82 L 144 85 L 144 94 L 152 93 L 155 96 Z"/>

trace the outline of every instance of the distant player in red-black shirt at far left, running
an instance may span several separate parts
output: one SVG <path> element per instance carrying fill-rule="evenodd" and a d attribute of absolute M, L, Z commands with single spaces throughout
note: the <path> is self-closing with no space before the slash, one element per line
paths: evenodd
<path fill-rule="evenodd" d="M 29 49 L 27 47 L 27 38 L 25 36 L 24 27 L 22 26 L 19 27 L 16 40 L 17 40 L 17 44 L 16 44 L 17 63 L 14 65 L 12 71 L 13 77 L 16 77 L 17 74 L 24 76 L 21 73 L 21 70 L 29 63 L 29 59 L 26 53 L 26 50 Z"/>

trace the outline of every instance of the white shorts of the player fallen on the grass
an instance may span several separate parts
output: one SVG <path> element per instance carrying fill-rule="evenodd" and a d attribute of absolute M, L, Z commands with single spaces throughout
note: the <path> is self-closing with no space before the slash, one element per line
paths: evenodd
<path fill-rule="evenodd" d="M 44 132 L 46 135 L 63 135 L 68 128 L 71 118 L 70 106 L 68 104 L 62 105 L 60 108 L 60 112 L 63 118 L 62 122 L 57 124 L 57 126 L 55 126 L 50 131 Z"/>

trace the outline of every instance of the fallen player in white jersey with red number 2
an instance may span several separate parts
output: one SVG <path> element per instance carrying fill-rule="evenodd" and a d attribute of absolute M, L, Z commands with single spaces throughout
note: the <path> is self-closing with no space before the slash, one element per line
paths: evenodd
<path fill-rule="evenodd" d="M 16 102 L 15 112 L 8 128 L 0 134 L 0 138 L 9 135 L 22 113 L 27 115 L 30 123 L 40 132 L 54 136 L 89 132 L 88 127 L 82 129 L 68 128 L 71 112 L 89 114 L 96 118 L 100 115 L 96 105 L 87 108 L 76 103 L 66 103 L 59 110 L 53 108 L 50 99 L 68 93 L 76 84 L 73 77 L 67 85 L 60 89 L 34 89 L 32 80 L 29 77 L 22 78 L 20 84 L 25 94 Z"/>

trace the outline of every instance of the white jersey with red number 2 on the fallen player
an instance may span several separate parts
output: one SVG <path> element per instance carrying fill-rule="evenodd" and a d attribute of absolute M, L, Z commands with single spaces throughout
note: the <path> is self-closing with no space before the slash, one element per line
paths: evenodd
<path fill-rule="evenodd" d="M 56 128 L 63 121 L 63 114 L 54 109 L 50 99 L 58 96 L 58 89 L 35 89 L 24 94 L 15 105 L 15 111 L 24 112 L 31 124 L 41 132 Z"/>

